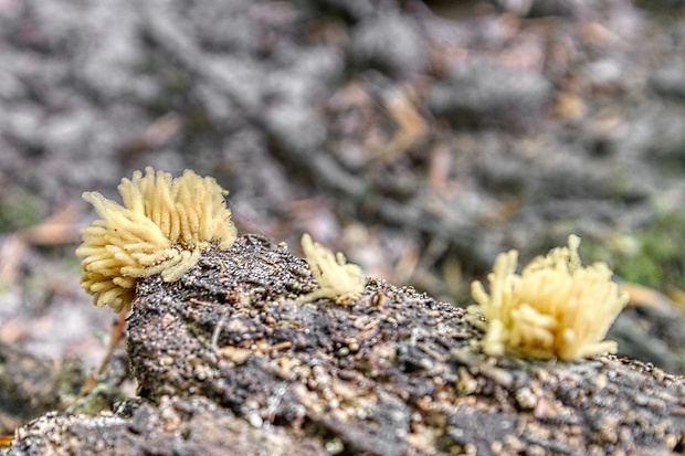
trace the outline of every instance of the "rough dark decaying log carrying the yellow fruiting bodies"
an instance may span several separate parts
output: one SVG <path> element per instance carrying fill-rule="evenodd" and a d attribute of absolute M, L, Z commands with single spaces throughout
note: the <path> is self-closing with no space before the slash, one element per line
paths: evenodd
<path fill-rule="evenodd" d="M 11 455 L 685 453 L 685 381 L 598 357 L 483 354 L 482 321 L 369 279 L 348 306 L 284 244 L 246 235 L 179 282 L 143 280 L 128 317 L 139 397 L 44 415 Z"/>

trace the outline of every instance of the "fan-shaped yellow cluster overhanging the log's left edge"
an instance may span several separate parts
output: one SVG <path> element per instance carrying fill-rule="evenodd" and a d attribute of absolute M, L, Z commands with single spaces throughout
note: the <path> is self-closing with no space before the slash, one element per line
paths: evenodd
<path fill-rule="evenodd" d="M 128 309 L 137 278 L 177 280 L 211 245 L 225 250 L 235 241 L 228 192 L 212 178 L 186 170 L 175 179 L 147 167 L 145 176 L 122 179 L 118 190 L 124 205 L 98 192 L 83 194 L 101 219 L 83 230 L 76 255 L 84 257 L 81 286 L 98 306 Z"/>

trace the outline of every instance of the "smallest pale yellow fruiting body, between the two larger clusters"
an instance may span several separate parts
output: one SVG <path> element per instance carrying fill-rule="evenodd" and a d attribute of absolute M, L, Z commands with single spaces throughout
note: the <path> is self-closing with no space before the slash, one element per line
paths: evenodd
<path fill-rule="evenodd" d="M 347 263 L 342 253 L 334 254 L 306 233 L 302 236 L 302 251 L 318 288 L 302 296 L 298 303 L 330 298 L 337 304 L 348 304 L 363 291 L 367 285 L 363 271 L 356 264 Z"/>

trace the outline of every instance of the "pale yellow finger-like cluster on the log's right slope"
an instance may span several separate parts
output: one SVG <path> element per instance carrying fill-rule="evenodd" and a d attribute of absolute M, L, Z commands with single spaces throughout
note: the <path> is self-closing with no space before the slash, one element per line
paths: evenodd
<path fill-rule="evenodd" d="M 619 293 L 607 264 L 581 265 L 578 236 L 568 244 L 533 259 L 520 275 L 518 252 L 499 254 L 489 295 L 479 282 L 471 284 L 478 305 L 470 310 L 489 320 L 486 353 L 575 360 L 616 351 L 616 342 L 603 339 L 629 296 Z"/>

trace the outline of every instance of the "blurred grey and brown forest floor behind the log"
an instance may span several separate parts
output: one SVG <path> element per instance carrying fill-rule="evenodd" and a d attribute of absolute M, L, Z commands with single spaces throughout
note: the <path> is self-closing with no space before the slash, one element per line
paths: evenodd
<path fill-rule="evenodd" d="M 0 0 L 6 389 L 99 363 L 81 193 L 148 165 L 460 306 L 576 233 L 631 291 L 620 354 L 685 372 L 685 1 Z"/>

